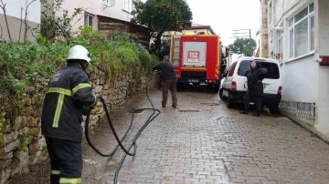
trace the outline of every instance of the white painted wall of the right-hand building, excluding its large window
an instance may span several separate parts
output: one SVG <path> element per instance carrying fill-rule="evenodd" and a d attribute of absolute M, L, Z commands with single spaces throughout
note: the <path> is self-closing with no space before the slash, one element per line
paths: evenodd
<path fill-rule="evenodd" d="M 282 100 L 289 102 L 315 103 L 315 128 L 329 136 L 329 66 L 314 62 L 319 56 L 329 56 L 329 1 L 327 0 L 271 0 L 269 17 L 269 52 L 276 54 L 278 34 L 271 30 L 283 26 Z M 301 58 L 289 59 L 288 20 L 306 5 L 314 3 L 313 53 Z M 270 10 L 269 10 L 270 11 Z M 271 20 L 271 21 L 270 21 Z"/>

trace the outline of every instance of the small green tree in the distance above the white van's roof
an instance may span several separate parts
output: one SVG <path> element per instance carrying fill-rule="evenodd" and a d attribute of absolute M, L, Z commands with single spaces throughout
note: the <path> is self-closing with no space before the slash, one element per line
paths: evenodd
<path fill-rule="evenodd" d="M 245 56 L 251 56 L 251 53 L 256 49 L 256 41 L 249 38 L 237 38 L 233 44 L 229 45 L 229 50 L 235 54 L 243 54 Z"/>

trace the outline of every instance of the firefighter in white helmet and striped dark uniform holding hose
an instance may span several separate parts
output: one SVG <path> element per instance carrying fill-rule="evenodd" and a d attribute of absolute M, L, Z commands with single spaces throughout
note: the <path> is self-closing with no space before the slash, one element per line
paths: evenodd
<path fill-rule="evenodd" d="M 50 183 L 81 183 L 82 114 L 89 107 L 97 111 L 97 97 L 89 84 L 90 54 L 83 46 L 69 49 L 67 66 L 50 78 L 41 116 L 41 131 L 45 136 L 51 164 Z"/>

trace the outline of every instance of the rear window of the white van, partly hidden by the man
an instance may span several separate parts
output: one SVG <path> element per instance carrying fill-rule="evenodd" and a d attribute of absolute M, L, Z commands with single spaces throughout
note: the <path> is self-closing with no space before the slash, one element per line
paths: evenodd
<path fill-rule="evenodd" d="M 250 70 L 251 60 L 243 60 L 241 61 L 238 69 L 239 76 L 246 76 L 247 72 Z M 270 62 L 260 62 L 260 67 L 262 68 L 265 78 L 270 79 L 279 79 L 280 72 L 279 66 L 275 63 Z"/>

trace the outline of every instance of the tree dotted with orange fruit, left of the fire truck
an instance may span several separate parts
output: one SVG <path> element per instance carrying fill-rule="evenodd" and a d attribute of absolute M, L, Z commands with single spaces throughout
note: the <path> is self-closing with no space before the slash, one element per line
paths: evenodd
<path fill-rule="evenodd" d="M 133 24 L 147 26 L 155 37 L 154 49 L 161 50 L 165 31 L 178 31 L 191 26 L 192 12 L 186 0 L 147 0 L 135 2 Z M 150 39 L 151 39 L 150 36 Z"/>

